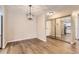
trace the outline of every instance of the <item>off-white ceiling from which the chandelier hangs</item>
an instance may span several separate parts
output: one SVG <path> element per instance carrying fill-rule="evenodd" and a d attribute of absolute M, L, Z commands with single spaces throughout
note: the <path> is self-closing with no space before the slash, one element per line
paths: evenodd
<path fill-rule="evenodd" d="M 27 5 L 8 5 L 8 9 L 11 11 L 26 12 L 28 10 Z M 49 11 L 54 11 L 55 13 L 68 12 L 71 13 L 73 10 L 79 10 L 78 5 L 32 5 L 32 14 L 37 16 L 45 14 Z"/>

